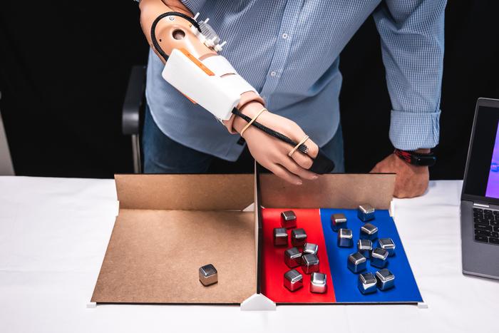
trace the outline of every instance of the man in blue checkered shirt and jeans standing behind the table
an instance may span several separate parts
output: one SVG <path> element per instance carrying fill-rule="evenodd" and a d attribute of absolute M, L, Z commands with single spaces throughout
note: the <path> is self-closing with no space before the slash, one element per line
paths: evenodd
<path fill-rule="evenodd" d="M 438 144 L 446 0 L 163 3 L 190 16 L 200 12 L 202 18 L 210 17 L 212 27 L 227 41 L 222 56 L 272 111 L 261 117 L 283 133 L 307 133 L 311 138 L 308 145 L 323 148 L 335 161 L 336 172 L 344 170 L 339 53 L 372 14 L 381 36 L 391 97 L 391 143 L 400 150 L 419 153 L 427 153 Z M 237 160 L 245 148 L 240 135 L 227 131 L 210 113 L 170 86 L 161 76 L 163 66 L 150 51 L 143 135 L 145 172 L 202 173 L 215 157 Z M 248 106 L 249 114 L 251 108 L 257 110 L 258 106 Z M 244 123 L 236 121 L 233 128 L 239 132 Z M 276 158 L 277 149 L 272 155 L 279 143 L 257 132 L 248 130 L 245 140 L 259 163 L 297 185 L 301 178 L 317 178 L 304 170 L 307 160 L 294 158 L 294 163 L 289 163 Z M 421 195 L 428 186 L 428 167 L 411 165 L 394 154 L 372 171 L 397 173 L 398 197 Z"/>

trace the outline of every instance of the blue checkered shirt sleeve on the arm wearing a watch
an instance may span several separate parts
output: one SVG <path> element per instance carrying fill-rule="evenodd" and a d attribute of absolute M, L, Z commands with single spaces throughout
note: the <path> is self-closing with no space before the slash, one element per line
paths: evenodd
<path fill-rule="evenodd" d="M 446 0 L 386 0 L 374 21 L 391 99 L 395 148 L 433 148 L 440 132 Z"/>

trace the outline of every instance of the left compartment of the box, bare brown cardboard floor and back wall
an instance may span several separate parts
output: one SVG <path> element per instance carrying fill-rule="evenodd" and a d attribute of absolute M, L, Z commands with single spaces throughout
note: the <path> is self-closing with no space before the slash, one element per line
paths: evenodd
<path fill-rule="evenodd" d="M 240 304 L 257 292 L 254 175 L 116 175 L 120 209 L 91 302 Z M 201 285 L 213 264 L 218 283 Z"/>

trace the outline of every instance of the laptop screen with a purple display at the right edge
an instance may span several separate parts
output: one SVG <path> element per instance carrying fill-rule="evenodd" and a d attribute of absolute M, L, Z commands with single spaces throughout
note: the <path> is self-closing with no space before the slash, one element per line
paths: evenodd
<path fill-rule="evenodd" d="M 463 195 L 499 199 L 499 101 L 498 106 L 478 103 L 468 152 Z"/>

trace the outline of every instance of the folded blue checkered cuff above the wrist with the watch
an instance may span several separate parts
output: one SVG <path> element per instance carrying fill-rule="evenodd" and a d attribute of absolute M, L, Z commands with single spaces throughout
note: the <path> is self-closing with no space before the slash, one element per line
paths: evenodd
<path fill-rule="evenodd" d="M 434 148 L 438 145 L 440 113 L 391 111 L 390 140 L 400 150 Z"/>

